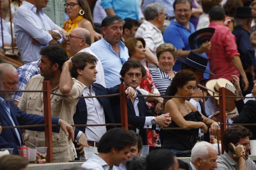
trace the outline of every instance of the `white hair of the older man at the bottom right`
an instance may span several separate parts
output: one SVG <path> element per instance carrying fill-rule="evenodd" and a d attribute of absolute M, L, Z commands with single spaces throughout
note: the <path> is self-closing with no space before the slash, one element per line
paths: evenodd
<path fill-rule="evenodd" d="M 209 148 L 215 150 L 212 144 L 206 141 L 196 143 L 196 145 L 191 150 L 191 162 L 196 162 L 196 158 L 206 158 Z"/>

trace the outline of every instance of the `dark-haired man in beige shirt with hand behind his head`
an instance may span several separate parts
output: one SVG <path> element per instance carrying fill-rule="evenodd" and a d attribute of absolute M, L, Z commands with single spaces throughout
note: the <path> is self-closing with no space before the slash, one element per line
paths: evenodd
<path fill-rule="evenodd" d="M 64 94 L 57 96 L 51 94 L 51 116 L 61 118 L 73 125 L 73 114 L 78 97 L 82 95 L 82 83 L 72 79 L 69 70 L 72 68 L 72 61 L 68 60 L 67 53 L 58 45 L 44 47 L 38 67 L 41 75 L 32 77 L 27 83 L 25 90 L 43 90 L 43 81 L 50 82 L 51 92 Z M 43 93 L 23 93 L 19 102 L 19 108 L 27 113 L 43 116 Z M 44 133 L 26 131 L 24 136 L 25 144 L 31 147 L 44 146 Z M 68 141 L 65 134 L 53 133 L 53 161 L 68 162 L 75 159 L 75 147 Z"/>

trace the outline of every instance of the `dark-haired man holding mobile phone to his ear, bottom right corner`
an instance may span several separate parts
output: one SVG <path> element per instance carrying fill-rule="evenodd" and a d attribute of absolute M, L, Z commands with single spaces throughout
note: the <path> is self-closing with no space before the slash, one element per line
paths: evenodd
<path fill-rule="evenodd" d="M 223 136 L 225 152 L 218 157 L 215 170 L 256 170 L 256 165 L 249 158 L 252 133 L 241 125 L 227 128 Z"/>

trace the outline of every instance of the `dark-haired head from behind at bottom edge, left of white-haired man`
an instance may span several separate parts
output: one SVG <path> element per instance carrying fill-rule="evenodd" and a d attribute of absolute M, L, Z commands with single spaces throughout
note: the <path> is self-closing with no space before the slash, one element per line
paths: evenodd
<path fill-rule="evenodd" d="M 178 167 L 174 153 L 167 149 L 153 150 L 146 158 L 146 170 L 178 170 Z"/>

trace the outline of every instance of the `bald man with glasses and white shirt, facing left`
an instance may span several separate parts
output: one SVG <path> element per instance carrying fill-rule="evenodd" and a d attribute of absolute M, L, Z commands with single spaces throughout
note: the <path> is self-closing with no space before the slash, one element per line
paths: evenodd
<path fill-rule="evenodd" d="M 96 83 L 106 87 L 104 79 L 104 70 L 101 61 L 96 56 L 96 54 L 94 54 L 94 52 L 90 50 L 91 34 L 89 30 L 84 28 L 75 28 L 70 32 L 69 35 L 66 35 L 66 41 L 66 50 L 70 52 L 72 56 L 79 52 L 88 52 L 98 59 L 98 62 L 96 64 L 96 70 L 98 71 L 98 73 L 96 74 Z"/>

